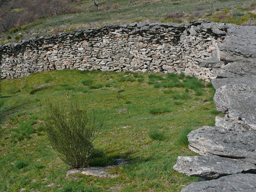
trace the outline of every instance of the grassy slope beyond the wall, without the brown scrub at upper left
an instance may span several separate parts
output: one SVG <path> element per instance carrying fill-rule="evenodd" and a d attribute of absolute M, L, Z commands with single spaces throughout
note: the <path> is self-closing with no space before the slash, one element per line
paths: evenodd
<path fill-rule="evenodd" d="M 256 3 L 253 0 L 179 0 L 179 1 L 99 1 L 99 9 L 90 1 L 74 3 L 83 13 L 42 18 L 0 35 L 2 44 L 44 34 L 100 27 L 104 24 L 132 22 L 188 22 L 208 20 L 255 25 Z"/>

